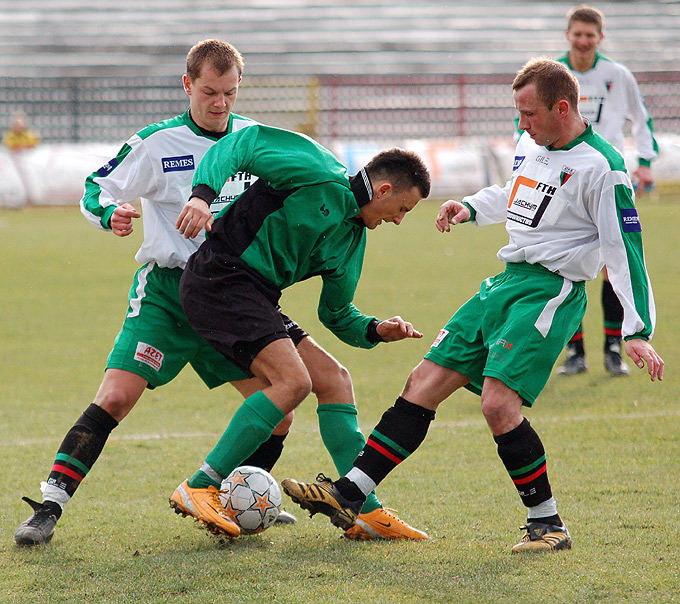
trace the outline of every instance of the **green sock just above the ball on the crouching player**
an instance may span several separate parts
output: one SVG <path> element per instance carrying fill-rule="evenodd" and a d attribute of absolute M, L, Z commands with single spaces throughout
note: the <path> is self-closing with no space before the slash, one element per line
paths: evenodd
<path fill-rule="evenodd" d="M 244 459 L 252 455 L 285 417 L 262 391 L 249 396 L 236 410 L 227 429 L 205 462 L 216 474 L 226 478 Z M 215 484 L 214 477 L 199 470 L 189 479 L 191 488 Z"/>

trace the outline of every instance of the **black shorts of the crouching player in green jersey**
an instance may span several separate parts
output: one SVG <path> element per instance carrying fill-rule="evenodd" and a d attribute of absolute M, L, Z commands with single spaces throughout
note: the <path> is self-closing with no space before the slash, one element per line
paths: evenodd
<path fill-rule="evenodd" d="M 218 352 L 252 375 L 250 365 L 275 340 L 296 346 L 307 333 L 283 314 L 281 291 L 240 258 L 203 244 L 189 258 L 180 300 L 191 327 Z"/>

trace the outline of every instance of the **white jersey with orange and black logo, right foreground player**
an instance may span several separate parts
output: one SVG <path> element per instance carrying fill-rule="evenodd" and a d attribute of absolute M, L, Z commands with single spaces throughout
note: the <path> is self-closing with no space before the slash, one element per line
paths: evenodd
<path fill-rule="evenodd" d="M 606 263 L 624 308 L 624 336 L 650 338 L 656 311 L 642 228 L 621 154 L 588 126 L 563 149 L 524 133 L 507 184 L 465 197 L 471 220 L 506 223 L 503 262 L 540 264 L 571 281 L 589 281 Z"/>

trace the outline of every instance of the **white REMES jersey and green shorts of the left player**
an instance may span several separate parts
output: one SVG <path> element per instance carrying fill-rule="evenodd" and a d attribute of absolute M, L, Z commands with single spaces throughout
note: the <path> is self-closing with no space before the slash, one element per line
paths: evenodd
<path fill-rule="evenodd" d="M 232 114 L 226 133 L 253 124 Z M 111 229 L 109 221 L 116 207 L 141 198 L 144 241 L 135 259 L 143 266 L 135 274 L 125 322 L 107 369 L 138 374 L 150 387 L 169 382 L 187 363 L 211 388 L 246 377 L 191 329 L 179 301 L 182 271 L 205 234 L 185 239 L 175 223 L 189 199 L 196 167 L 220 137 L 199 128 L 187 110 L 133 135 L 85 183 L 81 211 L 103 230 Z M 219 212 L 256 179 L 247 172 L 230 178 L 211 211 Z"/>

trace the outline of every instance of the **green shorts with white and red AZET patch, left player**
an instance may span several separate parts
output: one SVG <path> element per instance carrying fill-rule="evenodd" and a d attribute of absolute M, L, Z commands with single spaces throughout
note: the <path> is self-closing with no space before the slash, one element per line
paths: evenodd
<path fill-rule="evenodd" d="M 189 325 L 179 300 L 181 268 L 141 267 L 128 297 L 125 322 L 106 368 L 143 377 L 149 388 L 172 381 L 189 363 L 208 388 L 248 376 Z"/>

